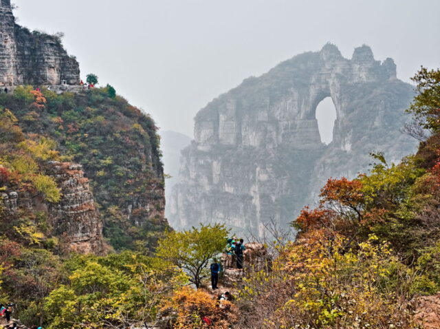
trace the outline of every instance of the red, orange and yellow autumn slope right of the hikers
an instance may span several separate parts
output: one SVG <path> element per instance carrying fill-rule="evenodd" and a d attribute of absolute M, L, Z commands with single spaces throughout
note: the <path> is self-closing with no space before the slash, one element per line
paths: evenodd
<path fill-rule="evenodd" d="M 329 178 L 272 272 L 245 279 L 244 328 L 440 328 L 426 307 L 440 303 L 440 70 L 413 80 L 417 153 L 399 165 L 373 153 L 369 173 Z"/>

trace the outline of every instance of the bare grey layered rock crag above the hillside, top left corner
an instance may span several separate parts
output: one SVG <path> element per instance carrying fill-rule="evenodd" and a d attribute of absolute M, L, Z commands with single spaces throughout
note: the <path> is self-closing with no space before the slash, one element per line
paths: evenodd
<path fill-rule="evenodd" d="M 78 85 L 79 65 L 59 36 L 15 23 L 10 0 L 0 0 L 0 86 Z"/>

